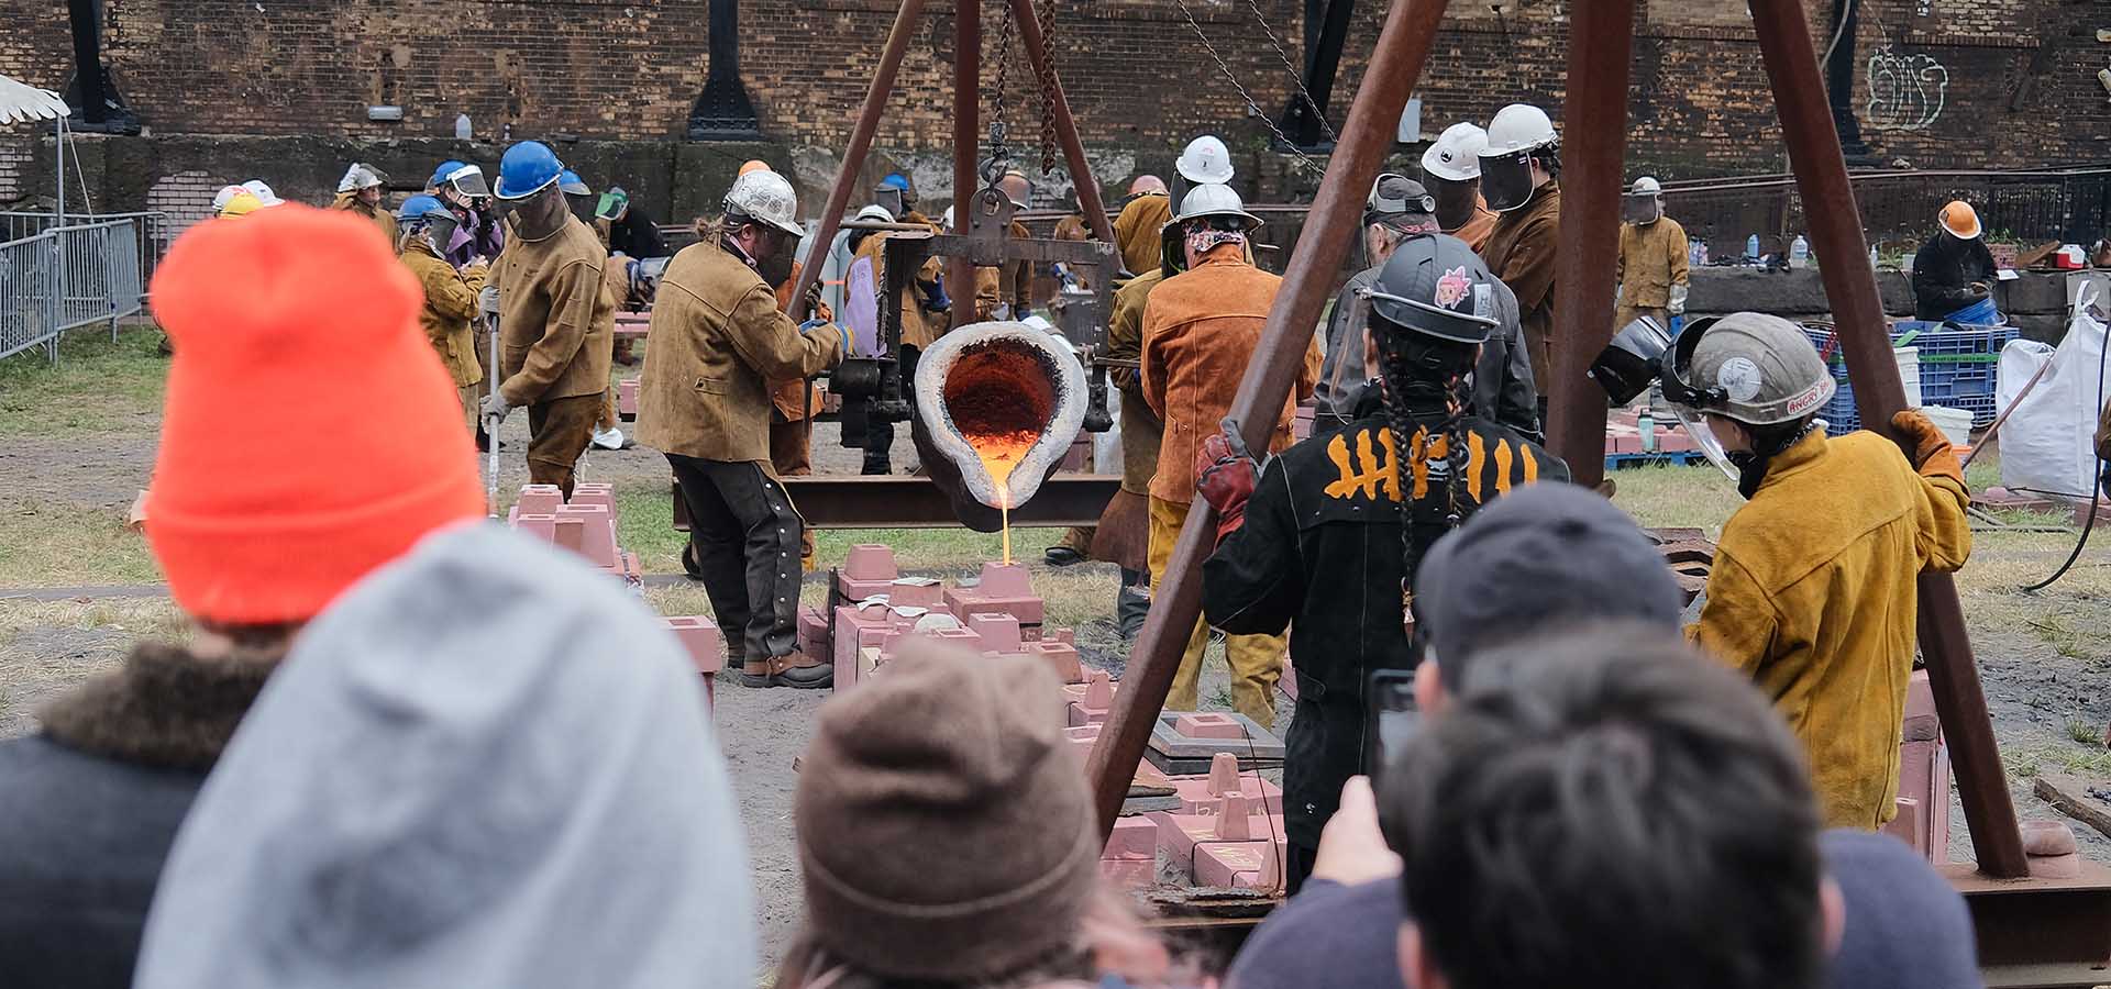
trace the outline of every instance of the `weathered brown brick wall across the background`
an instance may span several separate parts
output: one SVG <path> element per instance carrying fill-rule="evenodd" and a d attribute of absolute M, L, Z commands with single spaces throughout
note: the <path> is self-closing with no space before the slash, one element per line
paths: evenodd
<path fill-rule="evenodd" d="M 1486 120 L 1516 99 L 1558 116 L 1573 2 L 1457 0 L 1419 86 L 1425 133 Z M 1824 34 L 1830 0 L 1803 2 Z M 1007 4 L 982 6 L 988 122 Z M 1309 188 L 1309 177 L 1264 152 L 1264 122 L 1231 82 L 1264 116 L 1279 114 L 1292 82 L 1260 25 L 1300 61 L 1302 0 L 1186 0 L 1193 23 L 1176 0 L 1058 6 L 1056 61 L 1102 181 L 1163 171 L 1180 143 L 1210 129 L 1252 164 L 1252 192 L 1281 198 Z M 1336 127 L 1385 6 L 1357 4 L 1334 91 Z M 1784 167 L 1744 6 L 1636 0 L 1632 171 L 1699 177 Z M 743 4 L 743 78 L 775 154 L 792 160 L 802 188 L 834 173 L 895 8 L 895 0 Z M 952 2 L 929 8 L 876 137 L 878 160 L 866 162 L 908 169 L 927 190 L 946 186 L 952 146 Z M 106 11 L 108 61 L 154 135 L 298 135 L 382 150 L 452 137 L 462 112 L 481 139 L 511 124 L 515 137 L 673 148 L 709 46 L 707 0 L 277 0 L 264 11 L 253 0 L 106 0 Z M 2111 103 L 2094 74 L 2111 65 L 2111 46 L 2094 40 L 2096 13 L 2098 4 L 2065 0 L 1864 0 L 1853 95 L 1864 139 L 1883 160 L 1915 167 L 2098 158 Z M 0 72 L 63 82 L 70 42 L 51 4 L 0 0 L 0 23 L 11 25 L 0 32 Z M 1018 44 L 1005 72 L 1013 141 L 1039 164 L 1034 80 Z M 403 120 L 369 122 L 372 103 L 401 105 Z M 680 164 L 682 154 L 648 156 Z M 11 198 L 8 169 L 13 196 L 25 194 L 21 167 L 8 160 L 0 156 L 0 200 Z M 648 181 L 644 171 L 638 181 Z M 1060 196 L 1068 179 L 1056 175 L 1049 188 Z"/>

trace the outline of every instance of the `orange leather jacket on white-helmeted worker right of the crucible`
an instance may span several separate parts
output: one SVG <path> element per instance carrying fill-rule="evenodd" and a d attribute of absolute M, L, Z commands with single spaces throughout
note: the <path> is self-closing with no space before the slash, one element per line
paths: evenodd
<path fill-rule="evenodd" d="M 1144 304 L 1142 390 L 1165 422 L 1150 496 L 1195 500 L 1195 447 L 1231 413 L 1231 396 L 1260 346 L 1281 278 L 1245 264 L 1239 245 L 1220 245 L 1195 268 L 1159 283 Z M 1319 342 L 1305 346 L 1296 388 L 1275 418 L 1271 451 L 1290 445 L 1296 405 L 1319 382 Z"/>

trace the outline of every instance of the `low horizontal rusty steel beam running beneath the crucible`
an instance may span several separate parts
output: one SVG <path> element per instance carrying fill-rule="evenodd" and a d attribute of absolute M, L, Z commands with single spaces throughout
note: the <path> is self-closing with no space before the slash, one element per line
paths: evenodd
<path fill-rule="evenodd" d="M 779 479 L 809 529 L 958 529 L 961 517 L 929 477 L 804 474 Z M 1053 474 L 1011 510 L 1020 529 L 1093 525 L 1119 474 Z M 688 502 L 673 485 L 673 527 L 688 531 Z"/>

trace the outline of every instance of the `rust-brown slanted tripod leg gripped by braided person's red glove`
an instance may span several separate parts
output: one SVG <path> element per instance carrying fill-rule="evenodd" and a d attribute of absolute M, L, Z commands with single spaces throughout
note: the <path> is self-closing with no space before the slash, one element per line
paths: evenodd
<path fill-rule="evenodd" d="M 1319 308 L 1334 293 L 1334 272 L 1349 255 L 1349 243 L 1362 224 L 1364 196 L 1393 146 L 1400 110 L 1406 108 L 1408 93 L 1429 61 L 1444 6 L 1446 0 L 1393 0 L 1385 15 L 1378 46 L 1370 67 L 1364 70 L 1340 143 L 1313 198 L 1307 234 L 1290 257 L 1275 306 L 1269 308 L 1269 323 L 1260 331 L 1260 346 L 1254 348 L 1231 401 L 1231 415 L 1239 420 L 1245 443 L 1254 449 L 1267 449 L 1275 432 L 1275 418 L 1281 415 L 1305 348 L 1311 346 Z M 1201 616 L 1201 561 L 1210 555 L 1214 536 L 1216 512 L 1197 500 L 1180 529 L 1180 542 L 1174 544 L 1165 576 L 1153 590 L 1150 618 L 1144 620 L 1144 631 L 1129 654 L 1115 709 L 1100 730 L 1100 742 L 1091 746 L 1087 765 L 1100 810 L 1100 835 L 1115 829 L 1136 761 L 1144 757 L 1144 744 L 1165 704 L 1174 671 L 1180 668 L 1188 633 Z"/>

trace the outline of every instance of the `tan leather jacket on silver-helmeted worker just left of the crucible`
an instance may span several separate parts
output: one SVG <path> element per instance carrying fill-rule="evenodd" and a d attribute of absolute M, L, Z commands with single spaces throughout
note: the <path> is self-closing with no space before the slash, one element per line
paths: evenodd
<path fill-rule="evenodd" d="M 842 361 L 834 325 L 798 331 L 777 291 L 714 243 L 684 247 L 652 302 L 638 443 L 699 460 L 771 462 L 771 382 Z"/>

